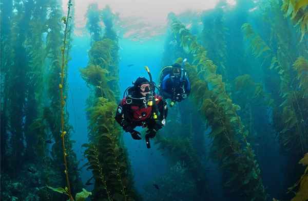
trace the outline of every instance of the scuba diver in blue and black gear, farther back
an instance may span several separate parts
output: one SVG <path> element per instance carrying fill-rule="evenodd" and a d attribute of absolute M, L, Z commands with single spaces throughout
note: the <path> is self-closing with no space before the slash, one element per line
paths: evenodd
<path fill-rule="evenodd" d="M 175 63 L 161 70 L 160 93 L 164 99 L 171 99 L 170 106 L 184 100 L 190 93 L 187 72 L 183 68 L 186 61 L 184 59 L 182 65 Z"/>

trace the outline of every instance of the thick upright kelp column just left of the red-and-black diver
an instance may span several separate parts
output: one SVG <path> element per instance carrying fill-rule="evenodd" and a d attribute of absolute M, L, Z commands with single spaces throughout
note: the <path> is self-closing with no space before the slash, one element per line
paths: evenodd
<path fill-rule="evenodd" d="M 97 5 L 93 5 L 93 9 L 95 13 L 92 14 L 97 17 Z M 95 23 L 97 20 L 94 19 Z M 109 22 L 108 19 L 104 20 L 106 23 Z M 110 27 L 106 29 L 109 29 L 106 32 L 110 31 Z M 101 37 L 96 37 L 98 38 Z M 137 199 L 127 153 L 121 148 L 121 130 L 114 119 L 117 108 L 115 101 L 118 100 L 120 91 L 118 50 L 118 42 L 115 39 L 105 36 L 101 41 L 94 39 L 89 51 L 88 66 L 80 70 L 82 78 L 95 90 L 91 97 L 94 101 L 89 102 L 87 109 L 90 143 L 85 145 L 85 153 L 89 160 L 88 169 L 93 170 L 95 178 L 93 200 Z"/>

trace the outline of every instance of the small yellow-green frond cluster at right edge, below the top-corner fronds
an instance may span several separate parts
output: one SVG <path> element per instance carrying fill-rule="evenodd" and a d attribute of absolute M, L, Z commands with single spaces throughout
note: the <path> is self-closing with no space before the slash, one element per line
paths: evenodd
<path fill-rule="evenodd" d="M 303 90 L 303 98 L 308 97 L 308 61 L 304 57 L 299 57 L 293 64 L 297 71 L 299 87 Z"/>

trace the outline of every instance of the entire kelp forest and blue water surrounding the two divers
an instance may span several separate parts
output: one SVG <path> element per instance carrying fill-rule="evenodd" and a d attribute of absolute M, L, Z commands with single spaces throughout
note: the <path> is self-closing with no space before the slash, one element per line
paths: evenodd
<path fill-rule="evenodd" d="M 77 0 L 1 0 L 1 200 L 307 201 L 308 1 L 228 2 L 170 7 L 142 44 L 107 4 L 83 6 L 80 36 Z M 165 100 L 151 149 L 115 120 L 126 83 L 147 78 L 144 55 L 157 88 L 172 64 L 191 87 Z"/>

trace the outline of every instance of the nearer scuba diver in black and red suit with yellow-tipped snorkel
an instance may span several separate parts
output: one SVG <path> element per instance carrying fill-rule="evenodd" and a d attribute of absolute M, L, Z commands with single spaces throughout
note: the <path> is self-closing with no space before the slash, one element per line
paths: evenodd
<path fill-rule="evenodd" d="M 150 81 L 139 77 L 133 86 L 126 88 L 122 101 L 120 102 L 115 120 L 129 132 L 135 140 L 141 139 L 141 134 L 134 130 L 136 126 L 147 127 L 145 139 L 146 146 L 150 148 L 149 138 L 153 138 L 161 129 L 167 117 L 167 103 L 161 96 L 155 94 L 155 83 L 147 66 Z"/>

